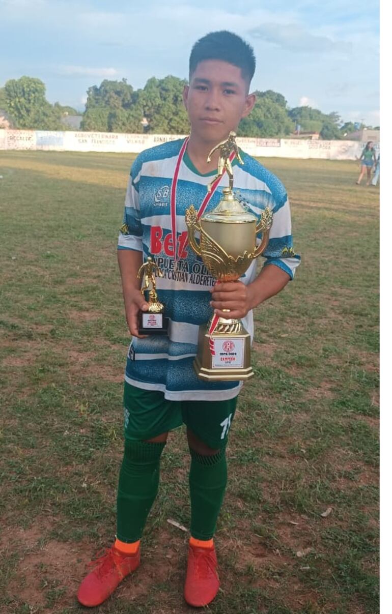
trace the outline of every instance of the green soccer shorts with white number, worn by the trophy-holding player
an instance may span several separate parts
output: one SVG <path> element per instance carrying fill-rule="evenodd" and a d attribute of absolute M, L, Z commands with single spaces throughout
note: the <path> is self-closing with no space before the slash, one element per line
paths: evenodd
<path fill-rule="evenodd" d="M 163 392 L 124 384 L 124 437 L 149 440 L 186 426 L 213 449 L 227 444 L 237 397 L 225 401 L 168 401 Z"/>

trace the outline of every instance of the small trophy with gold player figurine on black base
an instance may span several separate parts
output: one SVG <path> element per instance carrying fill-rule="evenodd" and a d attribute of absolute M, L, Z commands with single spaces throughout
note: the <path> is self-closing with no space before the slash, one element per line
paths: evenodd
<path fill-rule="evenodd" d="M 139 333 L 141 335 L 167 335 L 168 318 L 165 317 L 165 306 L 160 302 L 157 295 L 155 274 L 163 277 L 163 272 L 151 258 L 147 256 L 146 262 L 141 265 L 138 271 L 138 279 L 143 276 L 143 284 L 140 292 L 144 297 L 144 292 L 149 291 L 148 310 L 139 313 Z M 151 286 L 151 290 L 149 290 Z"/>

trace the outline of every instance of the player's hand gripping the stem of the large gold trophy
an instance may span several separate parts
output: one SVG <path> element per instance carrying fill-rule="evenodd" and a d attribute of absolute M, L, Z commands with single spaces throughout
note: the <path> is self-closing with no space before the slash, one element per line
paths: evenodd
<path fill-rule="evenodd" d="M 210 292 L 212 294 L 210 305 L 218 316 L 241 318 L 245 317 L 252 308 L 251 290 L 241 281 L 216 283 Z M 230 313 L 222 309 L 229 309 Z"/>

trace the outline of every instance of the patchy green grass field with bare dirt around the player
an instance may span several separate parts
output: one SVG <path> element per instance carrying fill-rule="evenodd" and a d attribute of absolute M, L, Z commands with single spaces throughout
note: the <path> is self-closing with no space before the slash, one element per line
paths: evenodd
<path fill-rule="evenodd" d="M 116 241 L 131 157 L 0 152 L 0 612 L 82 612 L 111 544 L 128 344 Z M 349 161 L 267 158 L 294 282 L 256 310 L 229 440 L 213 614 L 378 612 L 378 188 Z M 100 614 L 188 613 L 189 455 L 171 434 L 143 562 Z M 321 516 L 332 508 L 327 517 Z M 302 555 L 302 556 L 301 556 Z"/>

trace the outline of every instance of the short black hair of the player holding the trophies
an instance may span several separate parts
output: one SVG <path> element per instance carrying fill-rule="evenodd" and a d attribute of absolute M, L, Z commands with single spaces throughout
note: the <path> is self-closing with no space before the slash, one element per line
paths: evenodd
<path fill-rule="evenodd" d="M 251 45 L 227 30 L 210 32 L 195 42 L 189 57 L 189 79 L 195 72 L 197 64 L 204 60 L 222 60 L 238 66 L 248 84 L 256 69 L 256 58 Z"/>

